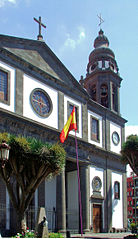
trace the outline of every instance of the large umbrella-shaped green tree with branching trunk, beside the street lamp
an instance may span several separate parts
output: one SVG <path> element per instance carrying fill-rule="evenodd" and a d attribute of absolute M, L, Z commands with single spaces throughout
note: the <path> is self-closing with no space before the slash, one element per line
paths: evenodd
<path fill-rule="evenodd" d="M 64 168 L 66 153 L 59 144 L 47 144 L 35 138 L 0 133 L 0 143 L 10 146 L 9 160 L 1 161 L 0 176 L 6 184 L 17 214 L 17 229 L 25 225 L 25 212 L 35 190 L 48 177 L 58 175 Z"/>

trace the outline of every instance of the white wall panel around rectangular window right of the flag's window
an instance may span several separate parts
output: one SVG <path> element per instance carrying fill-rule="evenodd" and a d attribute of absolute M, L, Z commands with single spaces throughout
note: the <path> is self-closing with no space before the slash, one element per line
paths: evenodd
<path fill-rule="evenodd" d="M 91 140 L 91 117 L 94 117 L 97 120 L 99 120 L 100 142 Z M 88 111 L 88 142 L 91 144 L 95 144 L 99 147 L 102 147 L 102 117 L 100 115 L 97 115 L 97 114 L 91 112 L 91 111 Z"/>

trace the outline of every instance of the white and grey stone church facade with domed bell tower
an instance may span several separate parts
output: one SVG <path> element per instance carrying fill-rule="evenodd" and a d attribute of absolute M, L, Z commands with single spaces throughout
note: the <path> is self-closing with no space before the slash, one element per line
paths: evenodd
<path fill-rule="evenodd" d="M 42 39 L 0 35 L 0 132 L 58 142 L 75 106 L 83 232 L 127 227 L 126 167 L 120 157 L 126 123 L 120 115 L 121 81 L 102 30 L 80 82 Z M 32 205 L 54 212 L 52 225 L 48 218 L 50 230 L 79 232 L 73 131 L 64 148 L 65 170 L 40 185 Z M 12 205 L 1 179 L 0 205 L 6 210 L 5 214 L 0 211 L 1 228 L 14 229 L 16 218 L 9 210 Z"/>

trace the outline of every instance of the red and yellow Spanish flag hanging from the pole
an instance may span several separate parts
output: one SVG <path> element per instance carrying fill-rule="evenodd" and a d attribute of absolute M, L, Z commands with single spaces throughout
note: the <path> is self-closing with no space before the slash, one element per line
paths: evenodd
<path fill-rule="evenodd" d="M 71 130 L 77 130 L 77 123 L 76 123 L 76 116 L 75 116 L 75 106 L 73 107 L 73 110 L 67 120 L 67 123 L 65 124 L 64 128 L 61 131 L 60 134 L 60 142 L 64 143 L 64 141 L 67 139 L 68 134 Z"/>

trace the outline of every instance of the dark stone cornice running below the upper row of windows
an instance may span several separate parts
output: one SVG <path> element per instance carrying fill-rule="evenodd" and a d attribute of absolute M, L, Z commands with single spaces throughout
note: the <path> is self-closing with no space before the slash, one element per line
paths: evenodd
<path fill-rule="evenodd" d="M 9 112 L 7 110 L 4 110 L 0 108 L 0 118 L 3 117 L 6 121 L 6 126 L 9 130 L 13 131 L 12 133 L 20 134 L 19 131 L 16 129 L 20 129 L 23 131 L 23 134 L 27 134 L 27 131 L 25 130 L 25 127 L 28 127 L 28 132 L 35 133 L 35 135 L 38 137 L 39 135 L 45 137 L 48 137 L 48 141 L 52 142 L 60 142 L 59 135 L 60 131 L 58 129 L 46 126 L 42 123 L 38 123 L 34 120 L 28 119 L 24 116 L 21 116 L 19 114 Z M 25 130 L 25 131 L 24 131 Z M 15 131 L 15 132 L 14 132 Z M 37 135 L 38 134 L 38 135 Z M 93 154 L 95 156 L 99 156 L 101 158 L 111 159 L 111 160 L 121 160 L 121 155 L 113 153 L 111 151 L 107 151 L 104 148 L 97 147 L 96 145 L 90 144 L 87 141 L 77 138 L 78 142 L 78 153 L 80 154 L 80 160 L 83 159 L 86 161 L 86 163 L 90 162 L 90 156 Z M 75 137 L 74 136 L 68 136 L 68 139 L 64 142 L 63 147 L 68 153 L 68 156 L 75 158 L 76 155 L 76 149 L 75 149 Z"/>

